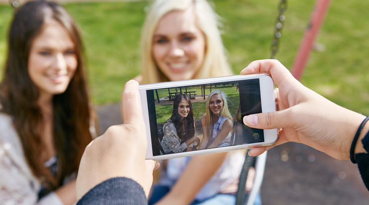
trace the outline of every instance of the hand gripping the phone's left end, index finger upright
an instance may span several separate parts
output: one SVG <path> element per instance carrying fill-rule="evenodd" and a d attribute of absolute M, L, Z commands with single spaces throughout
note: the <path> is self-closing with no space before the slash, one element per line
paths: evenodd
<path fill-rule="evenodd" d="M 143 121 L 138 83 L 128 81 L 122 99 L 123 122 L 114 125 L 92 141 L 82 155 L 79 165 L 76 194 L 81 199 L 90 189 L 113 177 L 133 179 L 149 194 L 157 161 L 147 159 L 146 130 Z"/>

